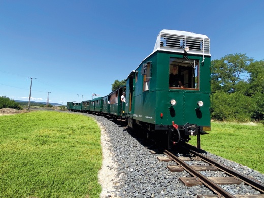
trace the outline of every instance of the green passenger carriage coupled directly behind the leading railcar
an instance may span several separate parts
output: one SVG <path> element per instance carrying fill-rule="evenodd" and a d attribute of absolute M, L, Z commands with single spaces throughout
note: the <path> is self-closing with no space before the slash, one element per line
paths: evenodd
<path fill-rule="evenodd" d="M 110 96 L 110 114 L 116 118 L 125 118 L 125 105 L 126 103 L 121 101 L 121 96 L 125 92 L 125 86 L 114 90 L 109 94 Z"/>

